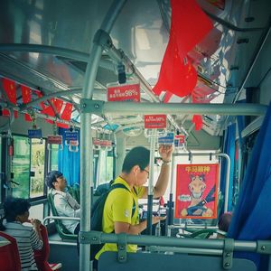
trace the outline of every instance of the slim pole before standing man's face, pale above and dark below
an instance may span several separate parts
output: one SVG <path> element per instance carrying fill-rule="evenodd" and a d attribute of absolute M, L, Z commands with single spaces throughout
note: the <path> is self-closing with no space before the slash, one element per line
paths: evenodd
<path fill-rule="evenodd" d="M 150 150 L 150 176 L 148 186 L 148 209 L 147 209 L 147 233 L 153 234 L 153 200 L 154 200 L 154 154 L 155 154 L 155 141 L 156 129 L 152 130 L 151 137 L 151 150 Z"/>

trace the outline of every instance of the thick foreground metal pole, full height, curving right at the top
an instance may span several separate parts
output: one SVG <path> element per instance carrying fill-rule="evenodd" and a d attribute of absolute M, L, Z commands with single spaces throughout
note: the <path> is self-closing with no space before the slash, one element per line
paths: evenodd
<path fill-rule="evenodd" d="M 115 0 L 110 6 L 107 15 L 101 25 L 101 29 L 110 33 L 113 24 L 117 19 L 126 0 Z M 84 78 L 84 86 L 82 98 L 92 98 L 94 83 L 97 76 L 98 62 L 102 53 L 101 45 L 93 43 L 90 51 L 88 66 Z M 82 105 L 84 107 L 84 105 Z M 91 113 L 81 114 L 81 148 L 80 148 L 80 195 L 81 216 L 80 216 L 80 231 L 90 230 L 90 183 L 93 186 L 93 151 L 92 151 L 92 132 L 91 132 Z M 89 262 L 89 244 L 80 244 L 79 270 L 90 270 Z"/>

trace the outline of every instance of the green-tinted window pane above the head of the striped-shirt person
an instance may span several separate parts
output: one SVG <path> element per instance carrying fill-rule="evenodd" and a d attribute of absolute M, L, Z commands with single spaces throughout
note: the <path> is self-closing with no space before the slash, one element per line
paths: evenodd
<path fill-rule="evenodd" d="M 14 158 L 12 162 L 12 172 L 14 173 L 13 196 L 29 198 L 29 174 L 30 174 L 30 146 L 28 137 L 14 135 Z"/>

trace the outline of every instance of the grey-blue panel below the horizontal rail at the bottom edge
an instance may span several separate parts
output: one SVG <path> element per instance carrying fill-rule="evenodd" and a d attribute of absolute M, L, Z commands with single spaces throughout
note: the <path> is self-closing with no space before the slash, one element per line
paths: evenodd
<path fill-rule="evenodd" d="M 118 262 L 117 252 L 104 252 L 98 258 L 98 271 L 225 271 L 222 257 L 190 255 L 190 254 L 161 254 L 161 253 L 127 253 L 126 262 Z M 183 264 L 185 263 L 185 264 Z M 230 271 L 256 271 L 255 264 L 244 258 L 233 258 Z"/>

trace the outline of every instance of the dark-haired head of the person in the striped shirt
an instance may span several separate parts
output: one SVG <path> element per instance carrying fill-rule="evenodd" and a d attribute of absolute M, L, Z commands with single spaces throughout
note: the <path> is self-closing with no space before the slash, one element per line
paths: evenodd
<path fill-rule="evenodd" d="M 30 209 L 29 201 L 20 198 L 9 198 L 4 203 L 5 220 L 7 222 L 28 220 Z"/>

